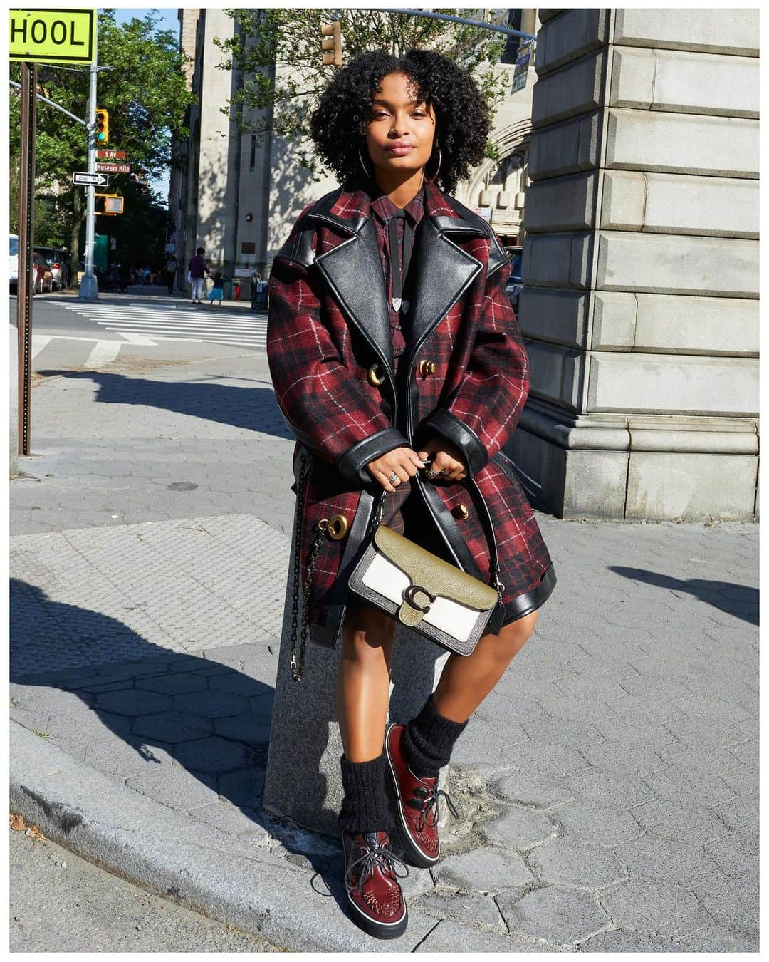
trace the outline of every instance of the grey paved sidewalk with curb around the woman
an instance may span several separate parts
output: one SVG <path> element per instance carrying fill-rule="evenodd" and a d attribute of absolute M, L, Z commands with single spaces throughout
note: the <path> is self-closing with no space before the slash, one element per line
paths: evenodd
<path fill-rule="evenodd" d="M 739 523 L 537 515 L 558 587 L 459 739 L 444 856 L 410 870 L 401 939 L 349 921 L 338 841 L 260 811 L 292 497 L 265 370 L 124 372 L 109 408 L 102 372 L 36 388 L 37 459 L 12 483 L 12 811 L 294 951 L 757 951 L 758 532 Z M 202 384 L 233 392 L 226 416 Z M 156 421 L 177 468 L 197 445 L 200 487 L 141 519 Z M 67 453 L 88 437 L 99 464 Z M 262 456 L 278 526 L 238 488 Z M 103 510 L 68 514 L 63 465 Z"/>

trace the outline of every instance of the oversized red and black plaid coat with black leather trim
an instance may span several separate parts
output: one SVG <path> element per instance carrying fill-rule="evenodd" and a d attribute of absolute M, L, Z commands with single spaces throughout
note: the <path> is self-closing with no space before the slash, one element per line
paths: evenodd
<path fill-rule="evenodd" d="M 299 506 L 303 579 L 318 521 L 343 515 L 350 525 L 341 540 L 322 539 L 314 566 L 312 638 L 329 645 L 338 639 L 347 579 L 382 492 L 365 465 L 401 444 L 418 449 L 436 434 L 462 451 L 488 504 L 505 621 L 528 614 L 555 586 L 539 526 L 502 453 L 529 392 L 529 361 L 505 292 L 509 261 L 483 218 L 434 184 L 424 190 L 409 270 L 408 346 L 397 376 L 364 181 L 308 205 L 270 274 L 267 358 L 297 439 L 295 472 L 299 455 L 310 455 Z M 416 488 L 425 531 L 432 525 L 447 557 L 489 581 L 489 548 L 466 486 L 420 476 Z"/>

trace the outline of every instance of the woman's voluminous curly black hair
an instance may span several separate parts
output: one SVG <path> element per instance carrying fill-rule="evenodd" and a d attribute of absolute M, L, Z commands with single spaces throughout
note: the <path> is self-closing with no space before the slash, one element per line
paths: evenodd
<path fill-rule="evenodd" d="M 343 66 L 310 114 L 310 137 L 319 156 L 340 183 L 360 177 L 358 150 L 365 139 L 371 103 L 389 73 L 406 74 L 416 99 L 433 105 L 435 163 L 438 147 L 441 154 L 435 183 L 451 193 L 484 159 L 491 118 L 467 70 L 432 50 L 413 48 L 400 58 L 384 50 L 367 51 Z M 433 169 L 431 160 L 428 176 Z"/>

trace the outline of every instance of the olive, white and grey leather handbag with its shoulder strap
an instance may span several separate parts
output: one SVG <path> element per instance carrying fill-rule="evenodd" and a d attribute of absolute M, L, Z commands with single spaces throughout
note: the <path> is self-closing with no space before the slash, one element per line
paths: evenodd
<path fill-rule="evenodd" d="M 348 584 L 362 601 L 459 655 L 473 653 L 492 617 L 496 616 L 495 622 L 504 617 L 505 586 L 498 577 L 493 525 L 484 495 L 475 481 L 470 484 L 483 502 L 481 517 L 490 548 L 491 585 L 382 524 L 386 492 L 375 516 L 374 536 Z"/>

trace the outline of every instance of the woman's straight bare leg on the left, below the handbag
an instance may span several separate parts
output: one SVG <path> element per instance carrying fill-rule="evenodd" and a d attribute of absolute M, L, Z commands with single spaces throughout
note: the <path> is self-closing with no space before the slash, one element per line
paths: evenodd
<path fill-rule="evenodd" d="M 351 762 L 382 754 L 389 704 L 395 622 L 375 608 L 350 605 L 342 627 L 336 712 L 342 749 Z"/>

